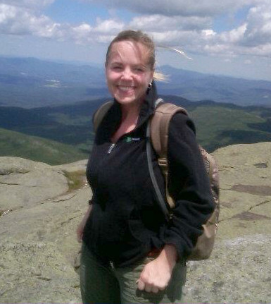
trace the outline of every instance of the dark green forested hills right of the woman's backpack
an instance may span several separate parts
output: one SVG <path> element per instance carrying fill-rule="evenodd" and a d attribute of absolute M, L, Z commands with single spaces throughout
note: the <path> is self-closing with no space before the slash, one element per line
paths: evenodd
<path fill-rule="evenodd" d="M 270 141 L 271 125 L 259 111 L 241 107 L 199 106 L 191 111 L 198 141 L 209 151 L 238 143 Z M 269 110 L 271 117 L 271 109 Z"/>

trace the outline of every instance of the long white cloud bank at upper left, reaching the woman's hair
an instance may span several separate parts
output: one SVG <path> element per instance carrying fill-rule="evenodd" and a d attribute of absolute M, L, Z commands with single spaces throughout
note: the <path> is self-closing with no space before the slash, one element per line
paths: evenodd
<path fill-rule="evenodd" d="M 32 35 L 60 41 L 71 39 L 76 43 L 85 44 L 93 41 L 108 42 L 115 32 L 122 30 L 125 26 L 118 20 L 99 18 L 94 27 L 88 23 L 79 25 L 55 23 L 48 16 L 39 13 L 39 10 L 23 7 L 23 5 L 30 7 L 34 1 L 25 0 L 20 3 L 22 6 L 17 5 L 18 1 L 11 2 L 16 5 L 0 4 L 0 33 L 4 35 Z M 52 1 L 38 2 L 40 7 Z"/>

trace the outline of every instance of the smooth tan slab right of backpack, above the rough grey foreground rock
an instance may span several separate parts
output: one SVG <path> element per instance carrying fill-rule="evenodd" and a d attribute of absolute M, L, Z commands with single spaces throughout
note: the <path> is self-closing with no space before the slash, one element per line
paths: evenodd
<path fill-rule="evenodd" d="M 232 145 L 214 156 L 220 167 L 218 238 L 271 233 L 271 142 Z"/>

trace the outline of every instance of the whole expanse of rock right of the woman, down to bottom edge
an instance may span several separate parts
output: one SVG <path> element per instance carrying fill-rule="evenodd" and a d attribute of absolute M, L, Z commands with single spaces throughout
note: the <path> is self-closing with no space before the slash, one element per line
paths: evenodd
<path fill-rule="evenodd" d="M 271 142 L 223 147 L 220 223 L 209 260 L 189 262 L 187 303 L 271 302 Z"/>

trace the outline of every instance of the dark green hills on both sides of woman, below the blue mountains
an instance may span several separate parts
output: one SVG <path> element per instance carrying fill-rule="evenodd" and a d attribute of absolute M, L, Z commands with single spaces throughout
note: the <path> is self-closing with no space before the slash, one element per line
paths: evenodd
<path fill-rule="evenodd" d="M 270 108 L 189 102 L 173 96 L 164 99 L 175 100 L 189 111 L 198 142 L 209 152 L 227 145 L 271 139 Z M 92 114 L 104 100 L 38 109 L 0 107 L 0 156 L 48 164 L 87 159 L 94 140 Z"/>

